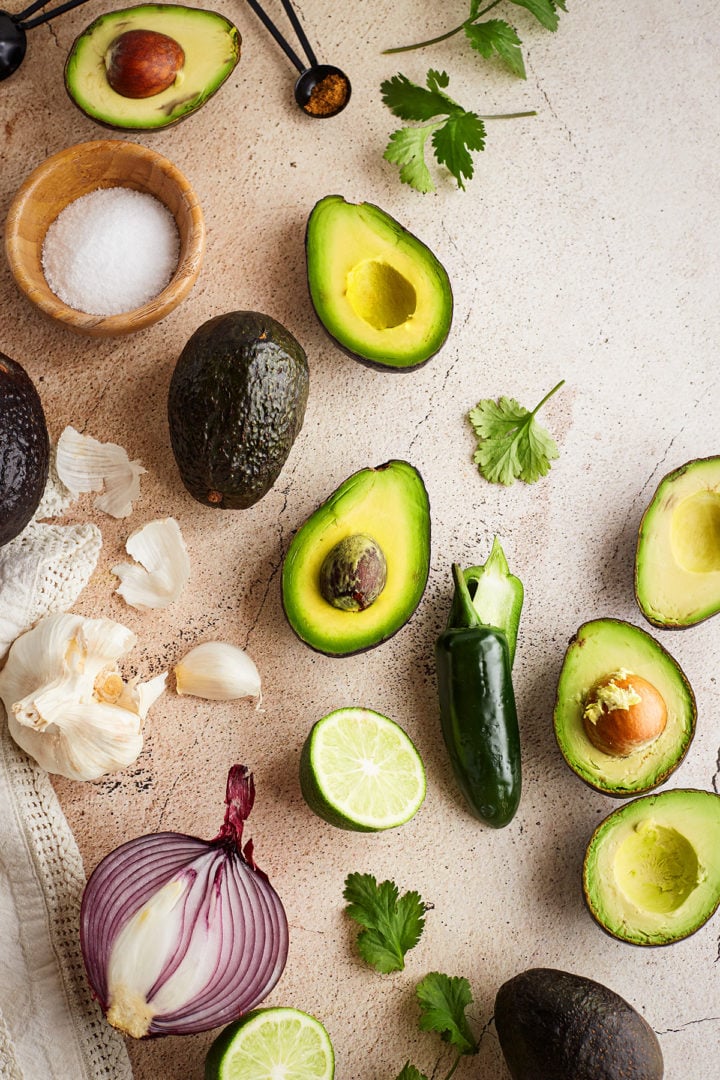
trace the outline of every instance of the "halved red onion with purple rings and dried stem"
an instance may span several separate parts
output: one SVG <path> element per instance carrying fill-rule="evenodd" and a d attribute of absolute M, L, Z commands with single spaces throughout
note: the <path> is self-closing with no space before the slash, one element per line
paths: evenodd
<path fill-rule="evenodd" d="M 228 1024 L 273 988 L 287 959 L 287 918 L 255 865 L 243 825 L 253 774 L 228 775 L 214 840 L 155 833 L 106 855 L 85 887 L 80 944 L 108 1021 L 135 1038 Z"/>

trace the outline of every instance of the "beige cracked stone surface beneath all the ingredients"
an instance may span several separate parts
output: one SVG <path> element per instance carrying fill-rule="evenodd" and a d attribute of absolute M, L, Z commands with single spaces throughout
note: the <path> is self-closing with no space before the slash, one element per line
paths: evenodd
<path fill-rule="evenodd" d="M 521 9 L 506 16 L 525 41 L 528 79 L 514 80 L 460 38 L 422 53 L 384 46 L 430 37 L 465 5 L 399 0 L 304 0 L 301 16 L 322 59 L 351 77 L 338 118 L 304 117 L 293 69 L 240 2 L 218 5 L 243 36 L 243 58 L 217 96 L 186 122 L 134 138 L 171 158 L 194 184 L 207 253 L 190 297 L 126 339 L 78 338 L 45 321 L 0 265 L 0 350 L 39 388 L 56 438 L 73 424 L 119 442 L 147 469 L 126 521 L 83 497 L 68 521 L 96 521 L 100 564 L 77 610 L 136 631 L 132 670 L 149 676 L 192 645 L 246 647 L 263 679 L 261 711 L 166 693 L 135 766 L 56 789 L 91 872 L 123 840 L 161 829 L 203 837 L 222 819 L 228 768 L 252 767 L 249 822 L 257 860 L 291 928 L 285 974 L 269 1001 L 323 1020 L 340 1080 L 395 1077 L 411 1059 L 429 1075 L 439 1040 L 417 1027 L 413 988 L 429 971 L 465 975 L 481 1036 L 458 1080 L 506 1077 L 491 1023 L 497 988 L 525 968 L 559 967 L 607 983 L 657 1031 L 668 1080 L 716 1080 L 720 1045 L 720 922 L 669 948 L 638 949 L 601 933 L 584 908 L 581 866 L 593 828 L 615 804 L 567 769 L 552 730 L 566 643 L 599 616 L 642 624 L 633 596 L 641 513 L 670 469 L 718 453 L 718 65 L 720 17 L 699 0 L 569 4 L 549 33 Z M 47 154 L 107 134 L 63 91 L 74 37 L 106 10 L 99 0 L 29 31 L 23 69 L 0 86 L 0 213 Z M 280 4 L 273 4 L 281 18 Z M 451 76 L 449 93 L 483 113 L 536 109 L 488 123 L 487 149 L 465 192 L 438 176 L 435 194 L 399 184 L 383 162 L 398 124 L 380 98 L 397 71 Z M 419 370 L 372 370 L 341 354 L 307 294 L 303 233 L 315 201 L 337 192 L 375 202 L 445 264 L 454 324 Z M 253 309 L 279 319 L 307 350 L 303 430 L 274 489 L 252 510 L 216 512 L 185 492 L 168 442 L 167 387 L 177 355 L 206 319 Z M 532 406 L 559 379 L 543 420 L 560 458 L 533 486 L 487 484 L 464 419 L 483 396 Z M 343 660 L 297 640 L 282 611 L 280 569 L 295 529 L 351 472 L 411 461 L 430 492 L 433 550 L 425 596 L 391 642 Z M 110 572 L 134 528 L 172 514 L 192 577 L 171 608 L 140 612 L 114 595 Z M 450 564 L 487 557 L 493 535 L 526 585 L 515 665 L 524 795 L 512 824 L 492 832 L 468 815 L 439 733 L 433 643 L 450 597 Z M 658 632 L 690 677 L 697 735 L 671 778 L 720 786 L 718 620 Z M 310 726 L 349 704 L 395 718 L 416 740 L 427 797 L 416 819 L 381 835 L 342 833 L 305 807 L 298 784 Z M 394 878 L 432 905 L 406 970 L 381 976 L 358 959 L 343 915 L 348 873 Z M 200 1078 L 213 1035 L 134 1043 L 138 1080 Z"/>

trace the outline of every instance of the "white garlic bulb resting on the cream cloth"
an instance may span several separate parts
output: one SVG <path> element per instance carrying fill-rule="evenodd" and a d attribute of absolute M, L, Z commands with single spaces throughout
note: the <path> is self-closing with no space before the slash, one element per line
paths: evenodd
<path fill-rule="evenodd" d="M 96 780 L 142 750 L 142 720 L 166 675 L 125 683 L 118 660 L 135 634 L 110 619 L 51 615 L 14 642 L 0 672 L 10 733 L 46 769 Z"/>

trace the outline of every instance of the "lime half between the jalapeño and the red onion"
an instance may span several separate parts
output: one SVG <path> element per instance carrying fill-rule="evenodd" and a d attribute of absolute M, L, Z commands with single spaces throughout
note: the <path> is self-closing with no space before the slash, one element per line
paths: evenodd
<path fill-rule="evenodd" d="M 425 797 L 425 770 L 410 738 L 370 708 L 338 708 L 313 725 L 300 756 L 300 787 L 330 825 L 363 833 L 404 825 Z"/>

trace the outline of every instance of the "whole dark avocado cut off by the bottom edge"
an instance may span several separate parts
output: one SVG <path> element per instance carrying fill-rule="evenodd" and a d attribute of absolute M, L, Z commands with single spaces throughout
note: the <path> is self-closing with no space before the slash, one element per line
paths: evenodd
<path fill-rule="evenodd" d="M 531 968 L 498 990 L 495 1029 L 513 1080 L 662 1080 L 648 1022 L 583 975 Z"/>

